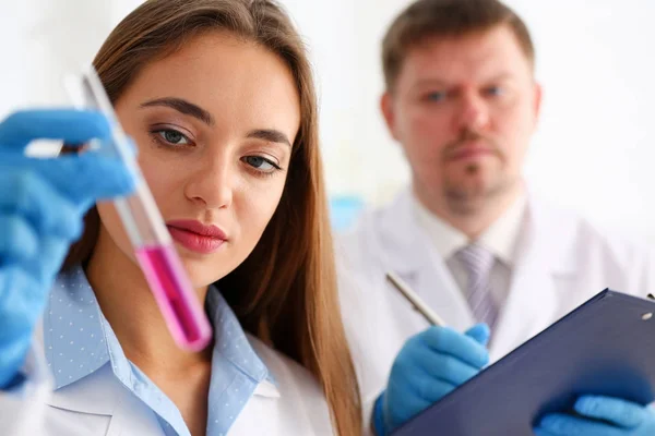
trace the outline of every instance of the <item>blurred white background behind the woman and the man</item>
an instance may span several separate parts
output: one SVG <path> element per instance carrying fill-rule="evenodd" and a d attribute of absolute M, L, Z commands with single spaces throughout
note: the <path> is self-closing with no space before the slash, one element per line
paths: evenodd
<path fill-rule="evenodd" d="M 0 0 L 0 117 L 64 100 L 61 75 L 88 62 L 139 0 Z M 330 193 L 368 204 L 407 179 L 378 110 L 380 40 L 406 0 L 283 0 L 321 93 Z M 526 178 L 604 227 L 655 242 L 655 1 L 509 0 L 527 22 L 545 86 Z"/>

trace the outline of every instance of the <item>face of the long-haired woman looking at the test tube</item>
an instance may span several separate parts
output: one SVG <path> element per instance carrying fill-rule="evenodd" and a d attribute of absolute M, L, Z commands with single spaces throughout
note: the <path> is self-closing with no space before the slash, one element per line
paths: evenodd
<path fill-rule="evenodd" d="M 276 55 L 224 33 L 150 63 L 117 101 L 194 287 L 234 270 L 260 240 L 284 190 L 299 107 Z M 134 259 L 114 206 L 98 213 L 100 239 Z"/>

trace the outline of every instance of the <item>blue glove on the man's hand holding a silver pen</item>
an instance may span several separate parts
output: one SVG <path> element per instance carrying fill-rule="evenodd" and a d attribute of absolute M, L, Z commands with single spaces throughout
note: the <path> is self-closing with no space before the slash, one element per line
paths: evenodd
<path fill-rule="evenodd" d="M 384 436 L 477 375 L 489 363 L 489 327 L 466 334 L 430 327 L 409 338 L 396 356 L 386 390 L 373 409 L 373 425 Z"/>

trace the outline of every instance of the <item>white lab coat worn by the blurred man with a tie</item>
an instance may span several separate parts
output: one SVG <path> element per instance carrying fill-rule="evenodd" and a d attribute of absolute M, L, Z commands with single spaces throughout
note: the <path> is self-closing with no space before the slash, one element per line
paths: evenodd
<path fill-rule="evenodd" d="M 474 324 L 444 261 L 416 221 L 410 195 L 404 192 L 385 208 L 365 214 L 336 244 L 342 311 L 367 414 L 405 340 L 428 326 L 386 283 L 388 270 L 450 326 L 464 330 Z M 655 290 L 650 250 L 607 238 L 529 194 L 526 207 L 512 284 L 490 343 L 492 361 L 605 288 L 641 296 Z"/>

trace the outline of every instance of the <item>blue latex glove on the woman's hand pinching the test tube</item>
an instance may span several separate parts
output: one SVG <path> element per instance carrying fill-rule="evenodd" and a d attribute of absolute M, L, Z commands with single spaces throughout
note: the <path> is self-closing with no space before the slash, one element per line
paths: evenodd
<path fill-rule="evenodd" d="M 133 180 L 118 159 L 97 153 L 36 159 L 36 138 L 82 144 L 108 138 L 97 112 L 38 110 L 0 123 L 0 389 L 20 378 L 35 324 L 83 216 L 98 198 L 128 194 Z"/>

